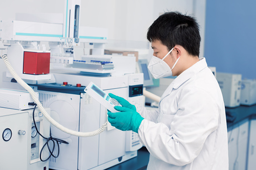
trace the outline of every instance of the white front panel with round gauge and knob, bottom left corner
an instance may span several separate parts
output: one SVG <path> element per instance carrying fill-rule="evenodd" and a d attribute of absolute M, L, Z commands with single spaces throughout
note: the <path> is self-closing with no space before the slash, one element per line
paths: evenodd
<path fill-rule="evenodd" d="M 1 134 L 4 135 L 7 128 L 11 130 L 10 137 L 6 139 L 8 141 L 3 137 L 0 139 L 1 169 L 28 169 L 28 112 L 0 107 Z M 19 135 L 18 130 L 24 130 L 26 134 Z M 7 132 L 4 137 L 6 135 Z"/>

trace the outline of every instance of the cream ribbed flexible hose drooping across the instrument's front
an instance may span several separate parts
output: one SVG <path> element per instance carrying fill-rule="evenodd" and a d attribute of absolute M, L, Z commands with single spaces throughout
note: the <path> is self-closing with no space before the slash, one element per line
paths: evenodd
<path fill-rule="evenodd" d="M 68 129 L 64 126 L 62 126 L 61 124 L 59 124 L 58 122 L 56 122 L 44 109 L 44 107 L 42 106 L 42 104 L 40 103 L 40 101 L 38 100 L 36 93 L 34 92 L 34 90 L 27 84 L 25 83 L 19 76 L 18 74 L 14 71 L 13 67 L 11 66 L 9 60 L 7 59 L 7 55 L 2 56 L 7 69 L 10 71 L 10 73 L 13 75 L 13 77 L 15 78 L 15 80 L 22 86 L 24 87 L 32 96 L 32 99 L 34 100 L 34 102 L 37 104 L 37 107 L 39 108 L 39 110 L 43 113 L 44 117 L 51 123 L 53 124 L 55 127 L 57 127 L 58 129 L 60 129 L 61 131 L 74 135 L 74 136 L 79 136 L 79 137 L 89 137 L 89 136 L 95 136 L 97 134 L 100 134 L 101 132 L 103 132 L 104 130 L 106 130 L 107 128 L 107 122 L 104 123 L 101 128 L 99 128 L 98 130 L 92 131 L 92 132 L 79 132 L 79 131 L 75 131 L 75 130 L 71 130 Z"/>

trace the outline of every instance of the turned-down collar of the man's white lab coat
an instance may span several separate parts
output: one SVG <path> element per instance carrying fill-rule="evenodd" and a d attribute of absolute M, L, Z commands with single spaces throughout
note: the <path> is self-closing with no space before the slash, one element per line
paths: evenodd
<path fill-rule="evenodd" d="M 182 72 L 175 80 L 174 80 L 174 89 L 178 89 L 184 82 L 189 80 L 192 76 L 203 70 L 207 67 L 207 63 L 204 57 L 199 58 L 200 61 L 198 61 L 196 64 Z"/>

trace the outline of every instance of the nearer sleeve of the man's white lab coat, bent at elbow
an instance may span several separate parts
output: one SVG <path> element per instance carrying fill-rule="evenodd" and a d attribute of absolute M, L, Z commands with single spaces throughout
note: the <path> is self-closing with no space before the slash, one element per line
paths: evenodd
<path fill-rule="evenodd" d="M 158 159 L 178 166 L 191 163 L 217 129 L 216 101 L 200 88 L 187 87 L 180 93 L 177 113 L 167 116 L 173 116 L 170 129 L 164 123 L 143 120 L 138 130 L 140 140 Z"/>

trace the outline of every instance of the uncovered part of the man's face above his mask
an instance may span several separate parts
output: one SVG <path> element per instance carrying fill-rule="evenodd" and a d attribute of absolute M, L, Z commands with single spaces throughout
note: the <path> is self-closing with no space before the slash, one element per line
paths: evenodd
<path fill-rule="evenodd" d="M 151 47 L 154 50 L 153 56 L 159 59 L 162 59 L 169 52 L 168 48 L 159 40 L 152 41 Z M 174 65 L 174 60 L 171 54 L 172 52 L 163 60 L 170 68 L 172 68 Z"/>

